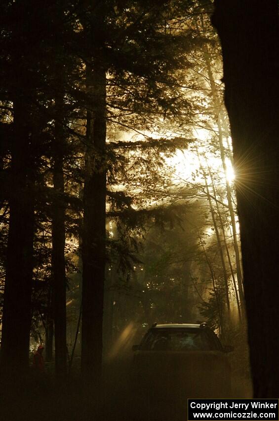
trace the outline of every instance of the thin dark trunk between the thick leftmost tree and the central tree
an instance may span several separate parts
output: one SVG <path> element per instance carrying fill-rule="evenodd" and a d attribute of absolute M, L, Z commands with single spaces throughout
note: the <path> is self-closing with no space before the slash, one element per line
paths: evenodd
<path fill-rule="evenodd" d="M 52 144 L 53 202 L 52 202 L 52 275 L 53 316 L 55 329 L 55 372 L 63 379 L 67 375 L 66 343 L 66 273 L 65 273 L 65 202 L 64 193 L 64 130 L 59 121 L 63 115 L 63 96 L 56 98 L 57 120 Z"/>

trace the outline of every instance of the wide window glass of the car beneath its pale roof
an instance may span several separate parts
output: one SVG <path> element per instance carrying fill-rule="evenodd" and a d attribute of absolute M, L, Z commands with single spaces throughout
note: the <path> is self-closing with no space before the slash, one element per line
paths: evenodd
<path fill-rule="evenodd" d="M 214 338 L 199 328 L 151 329 L 140 346 L 146 351 L 212 351 L 218 348 Z"/>

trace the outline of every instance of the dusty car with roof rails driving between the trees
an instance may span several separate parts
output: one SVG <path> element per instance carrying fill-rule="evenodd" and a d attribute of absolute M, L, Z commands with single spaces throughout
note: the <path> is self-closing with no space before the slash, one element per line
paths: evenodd
<path fill-rule="evenodd" d="M 141 391 L 164 398 L 230 397 L 232 347 L 223 347 L 206 323 L 154 323 L 132 349 L 134 383 Z"/>

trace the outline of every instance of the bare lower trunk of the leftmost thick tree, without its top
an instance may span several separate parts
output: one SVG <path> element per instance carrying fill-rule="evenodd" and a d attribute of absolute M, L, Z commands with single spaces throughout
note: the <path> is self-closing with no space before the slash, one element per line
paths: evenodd
<path fill-rule="evenodd" d="M 33 274 L 34 191 L 27 105 L 14 101 L 9 234 L 1 338 L 1 368 L 10 376 L 28 368 Z"/>

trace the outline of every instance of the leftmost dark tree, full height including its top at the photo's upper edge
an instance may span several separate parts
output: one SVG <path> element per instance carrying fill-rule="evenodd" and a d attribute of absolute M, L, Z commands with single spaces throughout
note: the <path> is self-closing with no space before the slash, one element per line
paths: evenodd
<path fill-rule="evenodd" d="M 33 272 L 34 161 L 38 138 L 34 130 L 34 95 L 40 76 L 38 59 L 29 56 L 30 45 L 38 47 L 40 13 L 30 13 L 32 5 L 5 4 L 2 55 L 7 79 L 1 94 L 12 102 L 13 123 L 9 183 L 9 234 L 3 303 L 1 364 L 11 372 L 22 371 L 29 362 L 31 295 Z M 29 24 L 25 25 L 24 22 Z M 10 54 L 7 49 L 10 49 Z M 35 76 L 36 74 L 36 76 Z"/>

